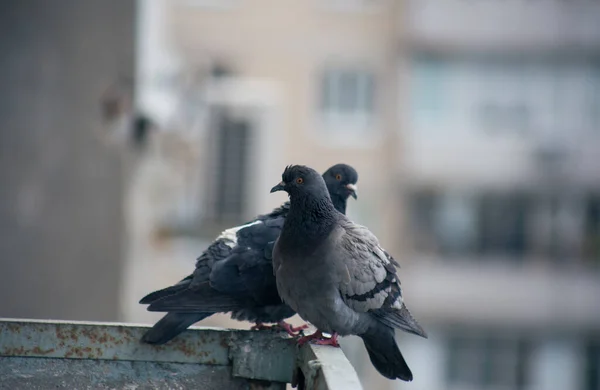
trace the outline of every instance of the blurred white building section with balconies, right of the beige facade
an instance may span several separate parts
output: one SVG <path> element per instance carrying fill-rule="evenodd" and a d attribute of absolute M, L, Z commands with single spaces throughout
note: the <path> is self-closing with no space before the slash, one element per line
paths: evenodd
<path fill-rule="evenodd" d="M 405 279 L 433 333 L 405 338 L 411 388 L 600 388 L 599 20 L 593 1 L 406 4 Z"/>

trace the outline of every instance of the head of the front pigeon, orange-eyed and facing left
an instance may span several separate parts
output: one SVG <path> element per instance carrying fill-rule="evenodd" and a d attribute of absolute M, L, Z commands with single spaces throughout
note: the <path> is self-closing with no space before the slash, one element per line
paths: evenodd
<path fill-rule="evenodd" d="M 290 198 L 314 195 L 329 198 L 323 177 L 314 169 L 304 165 L 289 165 L 281 175 L 281 182 L 271 192 L 285 191 Z"/>

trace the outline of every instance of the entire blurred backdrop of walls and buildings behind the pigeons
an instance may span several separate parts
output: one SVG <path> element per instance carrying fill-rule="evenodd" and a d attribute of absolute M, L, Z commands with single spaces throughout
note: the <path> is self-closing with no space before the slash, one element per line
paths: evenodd
<path fill-rule="evenodd" d="M 0 53 L 0 317 L 153 323 L 344 162 L 430 334 L 365 388 L 600 389 L 598 1 L 2 1 Z"/>

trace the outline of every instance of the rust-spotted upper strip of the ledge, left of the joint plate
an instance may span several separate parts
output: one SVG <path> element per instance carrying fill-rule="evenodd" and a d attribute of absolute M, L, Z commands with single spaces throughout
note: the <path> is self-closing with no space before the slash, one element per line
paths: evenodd
<path fill-rule="evenodd" d="M 231 365 L 232 343 L 265 338 L 286 342 L 273 333 L 191 328 L 164 345 L 154 346 L 139 341 L 148 328 L 138 324 L 0 318 L 0 356 Z"/>

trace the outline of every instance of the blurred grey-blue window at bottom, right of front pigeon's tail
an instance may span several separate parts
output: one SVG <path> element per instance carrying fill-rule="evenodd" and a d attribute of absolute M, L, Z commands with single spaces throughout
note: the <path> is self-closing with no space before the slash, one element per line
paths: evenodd
<path fill-rule="evenodd" d="M 446 377 L 453 388 L 523 389 L 531 345 L 524 339 L 453 333 L 448 337 Z"/>

